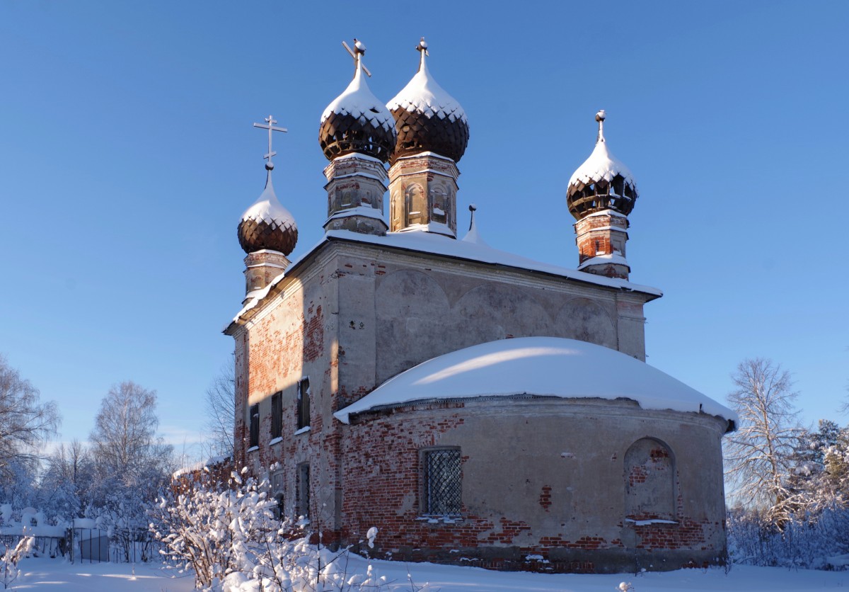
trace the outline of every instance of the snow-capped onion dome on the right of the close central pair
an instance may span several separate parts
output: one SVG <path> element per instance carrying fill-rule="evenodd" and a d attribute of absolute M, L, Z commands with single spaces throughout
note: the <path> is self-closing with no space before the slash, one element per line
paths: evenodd
<path fill-rule="evenodd" d="M 386 105 L 398 132 L 392 162 L 419 152 L 436 152 L 458 162 L 469 144 L 469 121 L 457 99 L 430 76 L 424 37 L 416 49 L 421 54 L 419 71 Z"/>

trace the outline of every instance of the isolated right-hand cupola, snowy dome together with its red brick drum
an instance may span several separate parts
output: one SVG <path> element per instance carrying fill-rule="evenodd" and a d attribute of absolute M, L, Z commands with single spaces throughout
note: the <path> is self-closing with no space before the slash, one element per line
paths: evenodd
<path fill-rule="evenodd" d="M 627 279 L 631 272 L 625 258 L 628 214 L 637 200 L 637 185 L 627 166 L 607 148 L 604 118 L 604 110 L 595 114 L 599 137 L 593 154 L 572 174 L 566 203 L 577 220 L 578 269 Z"/>

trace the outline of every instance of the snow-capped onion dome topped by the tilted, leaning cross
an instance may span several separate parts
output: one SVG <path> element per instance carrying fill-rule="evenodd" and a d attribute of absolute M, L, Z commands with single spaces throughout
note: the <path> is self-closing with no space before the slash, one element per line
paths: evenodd
<path fill-rule="evenodd" d="M 395 120 L 363 78 L 365 46 L 355 39 L 354 48 L 357 62 L 354 79 L 324 110 L 318 140 L 329 161 L 359 152 L 385 162 L 395 148 Z"/>

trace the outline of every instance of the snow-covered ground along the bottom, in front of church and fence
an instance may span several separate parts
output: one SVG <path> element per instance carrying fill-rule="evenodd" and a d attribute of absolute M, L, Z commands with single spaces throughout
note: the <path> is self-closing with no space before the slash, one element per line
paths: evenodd
<path fill-rule="evenodd" d="M 362 570 L 365 560 L 353 558 L 351 570 Z M 402 563 L 373 561 L 381 575 L 396 584 L 394 592 L 409 590 L 407 567 Z M 614 592 L 620 582 L 633 584 L 634 592 L 676 590 L 680 592 L 807 592 L 819 589 L 849 588 L 849 572 L 792 571 L 779 567 L 734 566 L 727 575 L 722 569 L 680 570 L 678 572 L 616 575 L 540 574 L 488 572 L 475 567 L 447 567 L 431 563 L 409 564 L 415 584 L 430 582 L 436 592 Z M 194 589 L 190 577 L 172 578 L 171 572 L 151 565 L 133 567 L 126 563 L 72 565 L 56 559 L 21 561 L 22 574 L 12 589 L 71 592 L 189 592 Z"/>

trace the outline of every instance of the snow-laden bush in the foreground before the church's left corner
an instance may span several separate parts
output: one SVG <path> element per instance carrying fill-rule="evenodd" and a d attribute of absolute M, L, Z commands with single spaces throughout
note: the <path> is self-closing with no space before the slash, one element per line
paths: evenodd
<path fill-rule="evenodd" d="M 372 567 L 351 572 L 347 549 L 309 544 L 295 523 L 275 518 L 267 486 L 245 469 L 228 478 L 203 471 L 173 484 L 150 524 L 172 567 L 191 569 L 215 592 L 375 592 L 388 582 Z M 374 544 L 377 528 L 369 529 Z M 429 588 L 414 586 L 414 592 Z"/>

